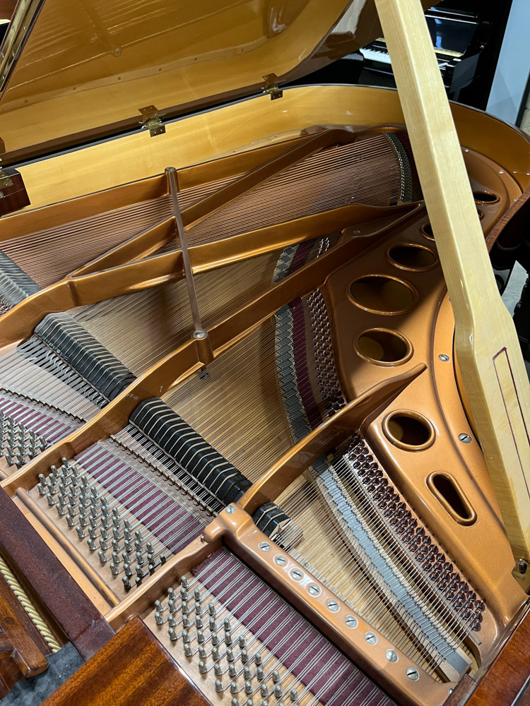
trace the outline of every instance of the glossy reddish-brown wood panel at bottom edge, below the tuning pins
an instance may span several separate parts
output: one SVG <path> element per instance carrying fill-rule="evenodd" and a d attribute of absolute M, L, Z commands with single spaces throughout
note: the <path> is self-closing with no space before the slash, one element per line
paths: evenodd
<path fill-rule="evenodd" d="M 206 706 L 140 618 L 133 618 L 42 706 Z"/>

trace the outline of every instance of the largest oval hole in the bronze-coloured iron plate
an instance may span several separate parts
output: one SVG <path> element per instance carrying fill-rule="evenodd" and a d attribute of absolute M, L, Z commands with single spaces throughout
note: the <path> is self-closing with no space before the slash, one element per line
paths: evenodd
<path fill-rule="evenodd" d="M 398 277 L 365 275 L 351 283 L 350 297 L 365 311 L 395 314 L 410 309 L 418 295 L 412 285 Z"/>

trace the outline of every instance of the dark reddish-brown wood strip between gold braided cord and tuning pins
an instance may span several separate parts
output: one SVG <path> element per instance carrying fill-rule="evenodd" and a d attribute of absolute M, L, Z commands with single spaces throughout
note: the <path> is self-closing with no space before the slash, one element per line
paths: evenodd
<path fill-rule="evenodd" d="M 71 578 L 28 520 L 0 489 L 0 552 L 40 597 L 82 657 L 97 652 L 114 630 Z"/>

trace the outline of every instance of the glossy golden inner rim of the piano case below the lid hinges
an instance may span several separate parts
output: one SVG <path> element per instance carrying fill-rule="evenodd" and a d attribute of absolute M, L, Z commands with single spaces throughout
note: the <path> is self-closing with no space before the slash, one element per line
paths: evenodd
<path fill-rule="evenodd" d="M 458 104 L 451 107 L 461 145 L 488 155 L 526 189 L 530 183 L 528 137 L 481 111 Z M 165 134 L 156 138 L 147 131 L 136 131 L 26 164 L 20 173 L 37 208 L 161 174 L 170 164 L 180 169 L 254 145 L 298 138 L 301 131 L 315 125 L 382 123 L 404 123 L 394 90 L 333 85 L 289 88 L 281 100 L 271 101 L 266 95 L 236 102 L 168 123 Z M 98 164 L 97 171 L 94 164 Z M 0 227 L 0 236 L 3 232 Z"/>

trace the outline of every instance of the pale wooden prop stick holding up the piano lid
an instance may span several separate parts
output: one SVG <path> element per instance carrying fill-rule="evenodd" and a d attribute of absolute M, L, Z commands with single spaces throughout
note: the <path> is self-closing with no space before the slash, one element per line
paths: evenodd
<path fill-rule="evenodd" d="M 530 390 L 420 0 L 375 0 L 451 297 L 455 352 L 516 559 L 530 558 Z"/>

